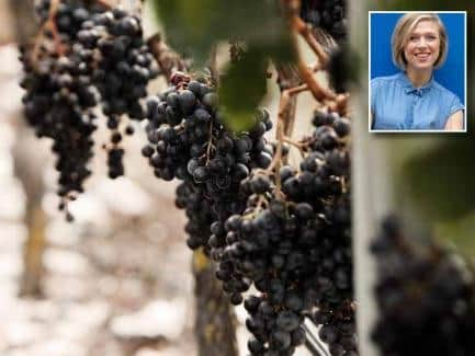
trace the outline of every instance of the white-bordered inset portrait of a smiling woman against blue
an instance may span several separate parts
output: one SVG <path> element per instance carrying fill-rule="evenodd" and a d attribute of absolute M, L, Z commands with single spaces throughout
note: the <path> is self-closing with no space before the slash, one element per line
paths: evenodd
<path fill-rule="evenodd" d="M 466 133 L 466 12 L 370 11 L 369 130 Z"/>

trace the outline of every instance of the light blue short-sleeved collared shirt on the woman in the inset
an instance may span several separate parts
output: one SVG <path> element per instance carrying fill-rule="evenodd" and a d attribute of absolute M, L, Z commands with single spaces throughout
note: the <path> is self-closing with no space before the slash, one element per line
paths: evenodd
<path fill-rule="evenodd" d="M 415 88 L 404 72 L 371 81 L 373 129 L 443 129 L 460 110 L 464 110 L 460 99 L 433 77 L 421 88 Z"/>

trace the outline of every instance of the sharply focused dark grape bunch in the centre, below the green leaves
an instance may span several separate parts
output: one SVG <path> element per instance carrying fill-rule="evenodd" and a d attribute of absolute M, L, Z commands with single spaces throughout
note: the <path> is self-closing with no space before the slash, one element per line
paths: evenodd
<path fill-rule="evenodd" d="M 216 244 L 215 230 L 245 208 L 240 182 L 272 159 L 263 138 L 272 126 L 269 114 L 260 111 L 249 131 L 235 135 L 224 125 L 213 89 L 183 78 L 150 97 L 147 106 L 149 145 L 143 153 L 158 177 L 183 181 L 177 205 L 189 216 L 188 244 L 191 249 L 204 246 L 211 253 Z M 204 226 L 211 234 L 203 233 Z M 212 253 L 215 260 L 218 255 L 218 250 Z"/>

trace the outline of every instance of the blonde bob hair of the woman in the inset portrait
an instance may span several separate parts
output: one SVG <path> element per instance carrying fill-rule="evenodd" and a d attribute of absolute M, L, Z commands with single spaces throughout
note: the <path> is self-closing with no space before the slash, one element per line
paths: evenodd
<path fill-rule="evenodd" d="M 446 37 L 445 26 L 443 25 L 440 18 L 432 13 L 406 13 L 397 22 L 393 32 L 393 38 L 391 41 L 393 47 L 393 61 L 403 70 L 405 70 L 407 66 L 407 60 L 404 56 L 404 47 L 408 42 L 409 35 L 421 21 L 432 21 L 439 27 L 440 50 L 439 58 L 437 58 L 433 67 L 439 68 L 445 61 L 449 48 L 449 38 Z"/>

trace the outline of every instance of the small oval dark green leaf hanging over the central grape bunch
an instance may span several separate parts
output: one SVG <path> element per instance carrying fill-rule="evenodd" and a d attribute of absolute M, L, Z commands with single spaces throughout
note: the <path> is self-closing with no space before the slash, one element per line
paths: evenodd
<path fill-rule="evenodd" d="M 218 90 L 226 125 L 234 131 L 244 131 L 255 123 L 256 108 L 267 91 L 264 53 L 252 48 L 231 64 L 222 78 Z"/>

